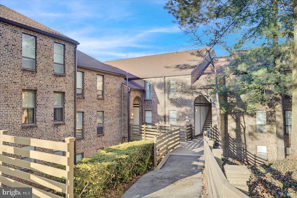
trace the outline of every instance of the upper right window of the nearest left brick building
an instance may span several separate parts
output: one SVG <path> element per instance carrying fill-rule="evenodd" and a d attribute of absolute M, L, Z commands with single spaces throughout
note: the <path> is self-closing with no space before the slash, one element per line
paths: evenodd
<path fill-rule="evenodd" d="M 54 73 L 64 74 L 64 45 L 54 43 Z"/>

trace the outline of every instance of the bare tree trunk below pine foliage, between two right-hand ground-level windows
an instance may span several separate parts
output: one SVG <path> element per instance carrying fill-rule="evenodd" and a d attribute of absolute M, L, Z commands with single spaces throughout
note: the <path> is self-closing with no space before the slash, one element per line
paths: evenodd
<path fill-rule="evenodd" d="M 277 139 L 277 159 L 285 158 L 284 143 L 284 117 L 282 115 L 282 96 L 275 96 L 275 121 L 276 121 L 276 139 Z"/>

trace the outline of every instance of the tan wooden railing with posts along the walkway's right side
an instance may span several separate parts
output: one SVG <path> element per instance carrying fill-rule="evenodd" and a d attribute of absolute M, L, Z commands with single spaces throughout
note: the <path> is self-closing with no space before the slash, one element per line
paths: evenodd
<path fill-rule="evenodd" d="M 245 166 L 225 165 L 224 168 L 228 177 L 227 179 L 221 170 L 222 149 L 213 149 L 213 143 L 212 140 L 207 138 L 205 133 L 204 166 L 208 197 L 249 197 L 247 181 L 249 180 L 250 172 Z"/>

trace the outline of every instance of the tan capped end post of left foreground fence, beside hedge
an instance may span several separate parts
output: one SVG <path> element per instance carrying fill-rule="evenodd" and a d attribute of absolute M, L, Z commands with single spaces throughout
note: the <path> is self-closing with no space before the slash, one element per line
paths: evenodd
<path fill-rule="evenodd" d="M 66 157 L 67 159 L 67 180 L 66 180 L 66 198 L 73 197 L 73 164 L 74 164 L 74 137 L 67 137 L 65 138 L 65 142 L 67 143 L 67 152 Z"/>

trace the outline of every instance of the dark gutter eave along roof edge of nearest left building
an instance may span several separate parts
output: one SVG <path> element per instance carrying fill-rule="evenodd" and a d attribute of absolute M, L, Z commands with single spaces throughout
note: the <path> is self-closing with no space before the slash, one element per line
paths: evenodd
<path fill-rule="evenodd" d="M 0 17 L 0 21 L 10 23 L 12 25 L 15 25 L 15 26 L 18 26 L 18 27 L 21 27 L 21 28 L 24 28 L 24 29 L 28 29 L 28 30 L 31 30 L 31 31 L 34 31 L 34 32 L 38 32 L 40 34 L 44 34 L 44 35 L 47 35 L 47 36 L 50 36 L 50 37 L 54 37 L 54 38 L 59 39 L 59 40 L 63 40 L 63 41 L 69 42 L 69 43 L 79 45 L 79 43 L 76 40 L 72 40 L 72 39 L 65 38 L 65 37 L 62 37 L 62 36 L 59 36 L 59 35 L 56 35 L 56 34 L 52 34 L 50 32 L 46 32 L 46 31 L 31 27 L 31 26 L 24 25 L 22 23 L 11 21 L 11 20 L 3 18 L 3 17 Z"/>

